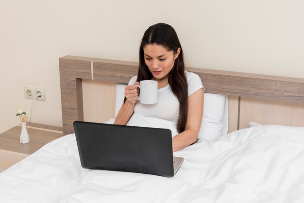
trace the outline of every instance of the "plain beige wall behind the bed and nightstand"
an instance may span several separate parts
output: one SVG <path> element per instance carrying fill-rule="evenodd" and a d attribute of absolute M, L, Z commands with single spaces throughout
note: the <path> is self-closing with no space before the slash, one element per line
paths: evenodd
<path fill-rule="evenodd" d="M 186 65 L 304 78 L 303 0 L 1 0 L 0 132 L 30 112 L 24 85 L 44 86 L 32 122 L 62 125 L 58 57 L 137 61 L 148 26 L 177 31 Z"/>

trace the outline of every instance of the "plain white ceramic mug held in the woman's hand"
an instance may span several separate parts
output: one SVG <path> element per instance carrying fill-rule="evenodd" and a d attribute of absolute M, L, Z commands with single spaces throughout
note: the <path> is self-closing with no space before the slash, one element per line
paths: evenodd
<path fill-rule="evenodd" d="M 154 80 L 140 81 L 140 85 L 136 85 L 140 88 L 138 100 L 142 104 L 154 104 L 157 103 L 158 85 Z"/>

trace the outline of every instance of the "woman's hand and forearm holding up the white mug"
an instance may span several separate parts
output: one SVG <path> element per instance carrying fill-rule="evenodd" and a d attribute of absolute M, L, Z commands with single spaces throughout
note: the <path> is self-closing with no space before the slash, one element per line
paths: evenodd
<path fill-rule="evenodd" d="M 128 85 L 125 87 L 126 101 L 122 104 L 114 124 L 125 125 L 134 113 L 134 106 L 138 99 L 138 82 L 135 85 Z"/>

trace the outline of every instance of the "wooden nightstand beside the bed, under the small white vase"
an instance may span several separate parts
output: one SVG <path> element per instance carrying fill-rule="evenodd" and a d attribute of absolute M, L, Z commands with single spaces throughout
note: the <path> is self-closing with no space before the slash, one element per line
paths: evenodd
<path fill-rule="evenodd" d="M 0 172 L 36 152 L 45 144 L 63 136 L 62 128 L 37 123 L 27 123 L 31 141 L 21 144 L 19 141 L 21 126 L 0 134 Z"/>

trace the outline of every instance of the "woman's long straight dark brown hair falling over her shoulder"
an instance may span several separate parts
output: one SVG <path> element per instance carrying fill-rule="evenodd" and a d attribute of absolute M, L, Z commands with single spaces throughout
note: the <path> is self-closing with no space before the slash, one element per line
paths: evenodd
<path fill-rule="evenodd" d="M 171 90 L 180 103 L 177 131 L 181 133 L 185 131 L 188 112 L 188 85 L 185 75 L 184 54 L 181 43 L 175 30 L 170 25 L 157 23 L 150 26 L 144 33 L 139 47 L 137 82 L 142 80 L 151 80 L 153 77 L 144 59 L 144 47 L 148 44 L 162 45 L 168 51 L 173 51 L 174 54 L 176 54 L 178 48 L 181 49 L 178 57 L 174 61 L 173 68 L 169 72 L 168 78 Z"/>

